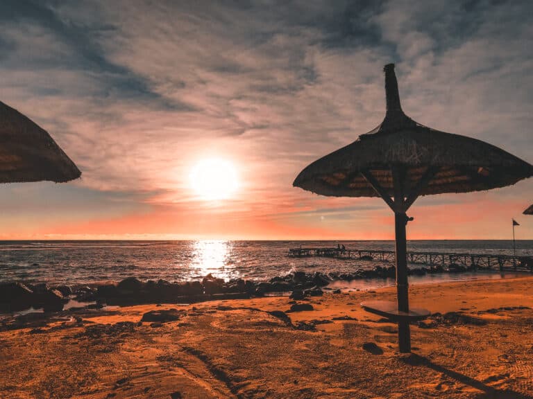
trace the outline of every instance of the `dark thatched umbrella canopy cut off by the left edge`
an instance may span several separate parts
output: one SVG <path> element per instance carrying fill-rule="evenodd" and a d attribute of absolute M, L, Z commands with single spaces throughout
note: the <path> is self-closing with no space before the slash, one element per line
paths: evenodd
<path fill-rule="evenodd" d="M 0 183 L 77 179 L 80 170 L 51 136 L 0 101 Z"/>

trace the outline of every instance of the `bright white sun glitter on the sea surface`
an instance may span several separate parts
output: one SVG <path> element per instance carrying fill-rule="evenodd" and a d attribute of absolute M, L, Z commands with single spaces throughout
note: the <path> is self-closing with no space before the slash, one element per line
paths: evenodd
<path fill-rule="evenodd" d="M 231 260 L 232 245 L 223 240 L 199 240 L 193 245 L 192 264 L 199 276 L 212 274 L 215 277 L 235 278 L 237 271 Z"/>

